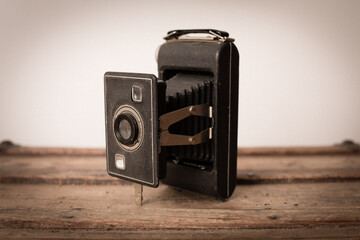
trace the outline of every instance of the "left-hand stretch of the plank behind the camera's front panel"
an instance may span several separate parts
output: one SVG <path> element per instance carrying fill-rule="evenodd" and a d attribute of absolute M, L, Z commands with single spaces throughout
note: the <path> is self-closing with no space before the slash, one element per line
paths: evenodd
<path fill-rule="evenodd" d="M 0 183 L 127 184 L 106 172 L 105 156 L 0 156 Z"/>

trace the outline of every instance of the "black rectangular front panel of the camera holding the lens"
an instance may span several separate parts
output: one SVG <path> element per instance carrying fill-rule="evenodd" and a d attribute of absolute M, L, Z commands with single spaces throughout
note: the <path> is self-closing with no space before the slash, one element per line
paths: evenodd
<path fill-rule="evenodd" d="M 115 72 L 104 78 L 107 171 L 157 187 L 157 79 L 151 74 Z"/>

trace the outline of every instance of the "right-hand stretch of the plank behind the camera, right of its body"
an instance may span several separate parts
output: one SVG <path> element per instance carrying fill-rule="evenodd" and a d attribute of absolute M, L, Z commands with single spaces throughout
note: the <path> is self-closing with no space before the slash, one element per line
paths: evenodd
<path fill-rule="evenodd" d="M 360 155 L 240 156 L 238 183 L 360 180 Z"/>

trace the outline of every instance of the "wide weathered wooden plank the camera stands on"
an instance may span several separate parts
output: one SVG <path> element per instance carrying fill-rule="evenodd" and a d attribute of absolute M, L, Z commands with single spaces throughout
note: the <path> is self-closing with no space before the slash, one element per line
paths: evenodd
<path fill-rule="evenodd" d="M 205 230 L 360 226 L 360 182 L 238 185 L 227 201 L 166 185 L 0 185 L 0 226 L 30 229 Z"/>

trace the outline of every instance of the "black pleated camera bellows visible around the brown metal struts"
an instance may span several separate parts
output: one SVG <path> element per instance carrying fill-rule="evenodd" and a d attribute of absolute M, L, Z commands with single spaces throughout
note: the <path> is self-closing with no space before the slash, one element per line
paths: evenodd
<path fill-rule="evenodd" d="M 212 75 L 207 73 L 181 72 L 166 81 L 166 112 L 183 107 L 207 103 L 212 105 Z M 191 116 L 169 129 L 171 133 L 195 135 L 211 127 L 211 119 Z M 176 160 L 182 164 L 211 169 L 213 156 L 209 140 L 195 146 L 167 147 L 168 159 Z"/>

